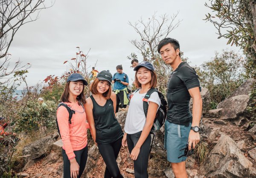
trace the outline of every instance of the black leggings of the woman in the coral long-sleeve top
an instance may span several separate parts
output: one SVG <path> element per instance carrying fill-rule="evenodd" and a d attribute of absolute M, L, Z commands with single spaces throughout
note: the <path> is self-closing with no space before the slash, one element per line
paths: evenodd
<path fill-rule="evenodd" d="M 88 146 L 85 146 L 83 149 L 74 151 L 76 155 L 76 162 L 79 164 L 79 175 L 78 178 L 81 177 L 84 172 L 84 168 L 87 161 L 88 156 Z M 63 157 L 63 178 L 70 178 L 70 161 L 67 157 L 66 151 L 62 149 L 62 157 Z"/>

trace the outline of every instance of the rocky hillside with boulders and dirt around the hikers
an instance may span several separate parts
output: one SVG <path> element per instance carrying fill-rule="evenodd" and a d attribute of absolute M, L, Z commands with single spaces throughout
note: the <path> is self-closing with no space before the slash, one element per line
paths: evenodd
<path fill-rule="evenodd" d="M 246 107 L 249 92 L 256 79 L 248 79 L 228 98 L 218 104 L 217 109 L 208 110 L 209 92 L 202 89 L 203 118 L 201 121 L 201 145 L 208 148 L 208 155 L 200 164 L 196 154 L 187 159 L 190 178 L 256 178 L 256 121 L 250 119 Z M 192 106 L 192 100 L 190 102 Z M 127 111 L 117 113 L 124 126 Z M 149 161 L 150 178 L 174 178 L 163 149 L 163 133 L 157 132 Z M 26 145 L 23 148 L 26 165 L 18 177 L 61 178 L 61 140 L 53 134 Z M 47 155 L 47 156 L 45 156 Z M 88 161 L 83 178 L 102 178 L 105 164 L 95 145 L 89 145 Z M 134 177 L 133 161 L 127 148 L 122 148 L 117 163 L 126 178 Z"/>

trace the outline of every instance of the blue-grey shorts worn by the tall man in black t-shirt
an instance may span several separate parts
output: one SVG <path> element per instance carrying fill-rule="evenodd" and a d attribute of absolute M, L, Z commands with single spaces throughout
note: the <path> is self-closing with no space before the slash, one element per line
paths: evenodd
<path fill-rule="evenodd" d="M 165 134 L 164 134 L 164 148 L 167 152 L 167 160 L 171 163 L 180 163 L 186 161 L 186 156 L 183 149 L 186 147 L 187 141 L 189 139 L 189 132 L 191 128 L 191 123 L 189 126 L 182 126 L 175 123 L 170 123 L 166 120 L 165 122 Z"/>

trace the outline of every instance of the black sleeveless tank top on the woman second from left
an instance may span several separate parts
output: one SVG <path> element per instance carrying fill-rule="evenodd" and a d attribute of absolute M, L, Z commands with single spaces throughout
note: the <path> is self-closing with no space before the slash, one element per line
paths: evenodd
<path fill-rule="evenodd" d="M 93 101 L 93 118 L 96 129 L 96 143 L 109 144 L 124 134 L 119 122 L 114 114 L 113 101 L 108 99 L 104 106 L 100 106 L 93 95 L 90 95 Z"/>

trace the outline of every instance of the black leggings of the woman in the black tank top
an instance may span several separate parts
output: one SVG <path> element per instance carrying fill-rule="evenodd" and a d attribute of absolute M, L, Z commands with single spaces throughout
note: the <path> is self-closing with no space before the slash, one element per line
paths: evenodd
<path fill-rule="evenodd" d="M 123 178 L 116 163 L 121 145 L 122 138 L 110 144 L 98 144 L 99 152 L 106 164 L 104 178 Z"/>

